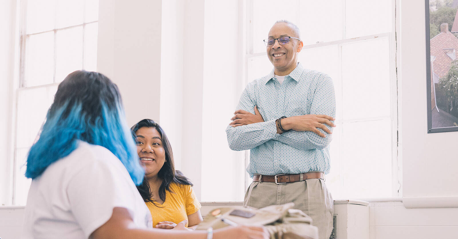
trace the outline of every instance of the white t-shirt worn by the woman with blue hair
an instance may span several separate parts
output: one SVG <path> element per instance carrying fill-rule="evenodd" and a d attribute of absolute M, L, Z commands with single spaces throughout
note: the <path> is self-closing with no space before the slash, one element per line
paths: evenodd
<path fill-rule="evenodd" d="M 121 161 L 102 146 L 78 142 L 32 180 L 22 238 L 88 238 L 114 207 L 128 209 L 138 228 L 152 228 L 151 213 Z"/>

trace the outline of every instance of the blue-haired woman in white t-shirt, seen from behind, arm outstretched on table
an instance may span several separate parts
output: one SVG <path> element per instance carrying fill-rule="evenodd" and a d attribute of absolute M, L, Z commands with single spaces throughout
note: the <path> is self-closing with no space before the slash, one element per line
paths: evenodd
<path fill-rule="evenodd" d="M 269 236 L 262 227 L 214 233 L 152 228 L 151 214 L 136 189 L 143 176 L 117 86 L 97 72 L 72 72 L 59 84 L 27 156 L 26 177 L 32 183 L 22 238 Z"/>

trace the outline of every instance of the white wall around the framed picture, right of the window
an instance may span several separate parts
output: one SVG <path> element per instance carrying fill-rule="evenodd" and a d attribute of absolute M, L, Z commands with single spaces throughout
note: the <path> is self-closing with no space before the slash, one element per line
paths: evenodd
<path fill-rule="evenodd" d="M 425 1 L 398 0 L 397 9 L 403 197 L 437 197 L 436 206 L 440 196 L 458 202 L 458 132 L 426 133 Z"/>

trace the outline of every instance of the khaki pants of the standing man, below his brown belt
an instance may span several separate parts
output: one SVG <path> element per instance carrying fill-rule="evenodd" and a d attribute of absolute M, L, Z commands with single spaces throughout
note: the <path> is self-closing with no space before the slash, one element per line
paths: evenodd
<path fill-rule="evenodd" d="M 284 184 L 253 182 L 246 190 L 243 205 L 262 208 L 289 202 L 294 202 L 294 209 L 300 209 L 312 218 L 319 239 L 329 239 L 333 231 L 334 204 L 322 179 Z"/>

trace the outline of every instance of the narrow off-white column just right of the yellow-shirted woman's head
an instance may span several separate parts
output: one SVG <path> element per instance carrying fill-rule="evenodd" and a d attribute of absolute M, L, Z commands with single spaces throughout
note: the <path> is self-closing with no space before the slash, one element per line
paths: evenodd
<path fill-rule="evenodd" d="M 204 13 L 204 0 L 185 0 L 181 166 L 185 176 L 194 183 L 199 200 L 202 189 Z"/>

